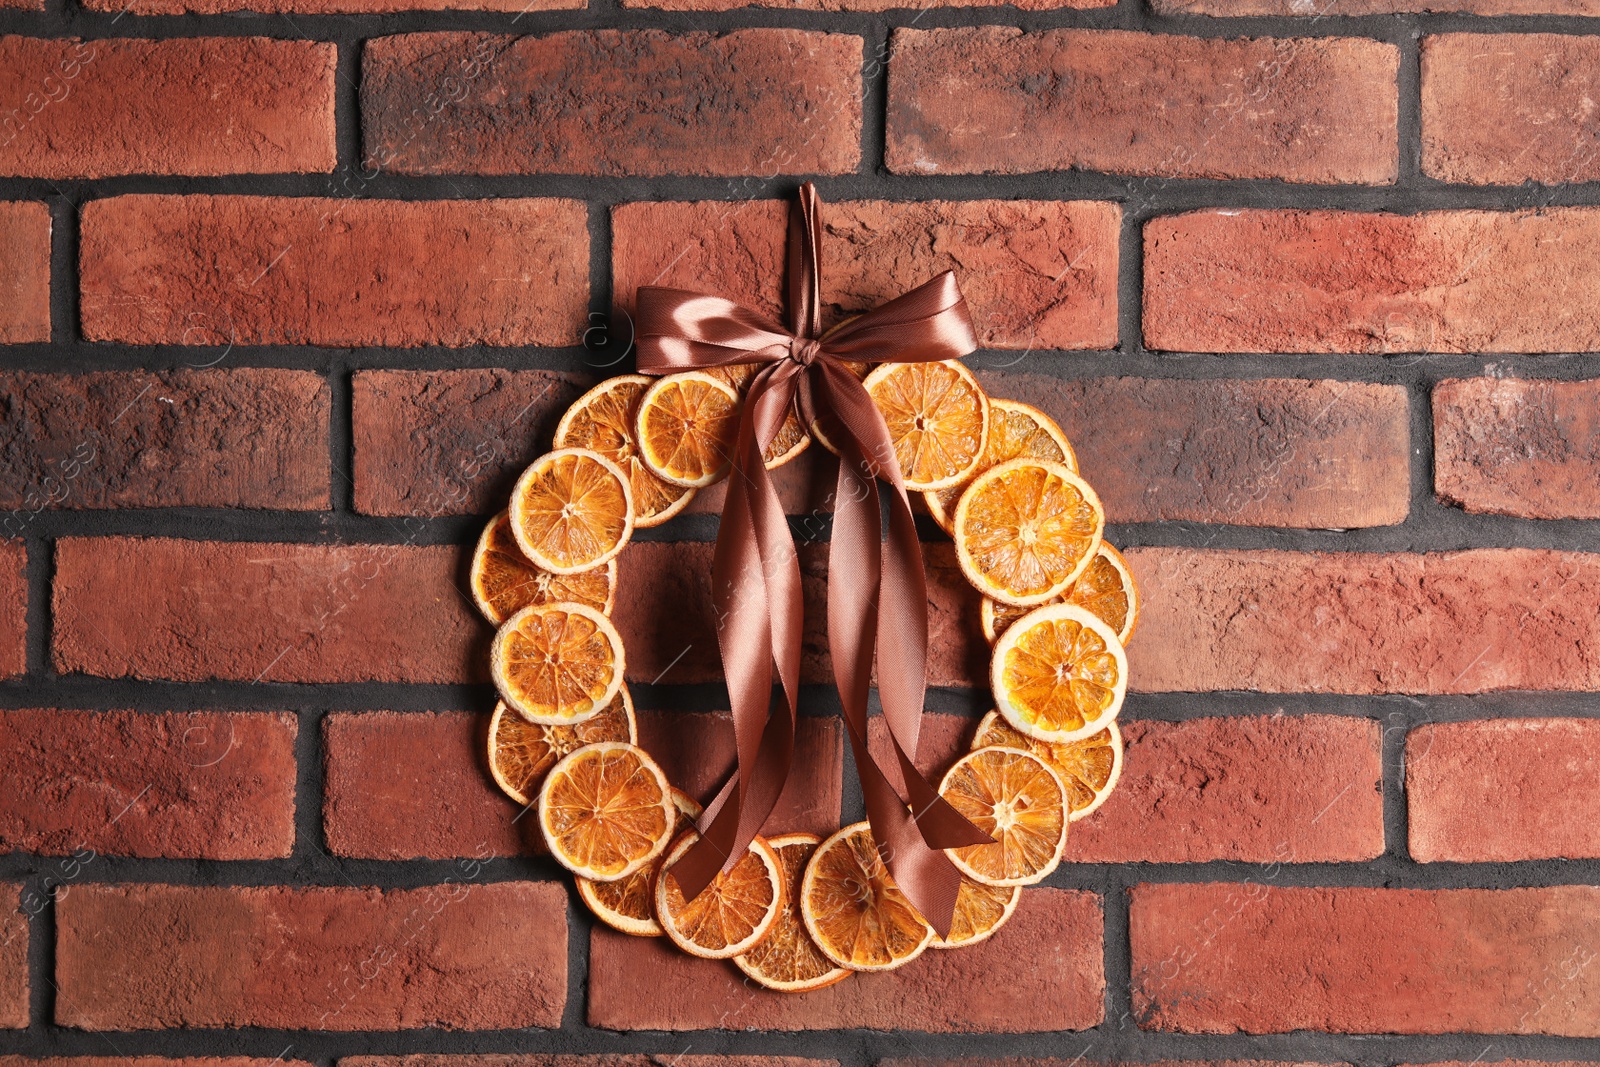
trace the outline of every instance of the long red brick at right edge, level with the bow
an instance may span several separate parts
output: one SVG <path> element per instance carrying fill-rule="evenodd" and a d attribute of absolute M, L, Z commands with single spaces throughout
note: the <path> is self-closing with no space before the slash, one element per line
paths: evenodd
<path fill-rule="evenodd" d="M 1178 352 L 1600 347 L 1600 210 L 1216 210 L 1144 227 L 1144 342 Z"/>

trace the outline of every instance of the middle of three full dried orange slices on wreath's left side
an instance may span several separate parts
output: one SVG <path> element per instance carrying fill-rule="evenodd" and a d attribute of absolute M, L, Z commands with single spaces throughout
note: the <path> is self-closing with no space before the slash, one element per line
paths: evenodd
<path fill-rule="evenodd" d="M 622 688 L 622 637 L 586 605 L 530 605 L 490 646 L 501 697 L 531 723 L 581 723 Z"/>

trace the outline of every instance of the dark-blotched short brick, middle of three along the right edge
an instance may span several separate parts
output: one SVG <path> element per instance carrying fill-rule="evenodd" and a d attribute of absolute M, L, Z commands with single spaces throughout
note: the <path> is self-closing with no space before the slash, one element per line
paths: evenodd
<path fill-rule="evenodd" d="M 1434 491 L 1469 512 L 1600 518 L 1600 381 L 1434 386 Z"/>

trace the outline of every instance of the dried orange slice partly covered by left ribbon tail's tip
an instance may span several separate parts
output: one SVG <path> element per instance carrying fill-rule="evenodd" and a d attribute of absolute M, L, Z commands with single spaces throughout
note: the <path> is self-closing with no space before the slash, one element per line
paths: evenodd
<path fill-rule="evenodd" d="M 672 865 L 683 859 L 699 833 L 682 835 L 656 873 L 656 921 L 672 944 L 702 960 L 726 960 L 749 952 L 778 923 L 784 910 L 784 870 L 763 838 L 731 870 L 723 870 L 693 901 L 683 899 Z"/>

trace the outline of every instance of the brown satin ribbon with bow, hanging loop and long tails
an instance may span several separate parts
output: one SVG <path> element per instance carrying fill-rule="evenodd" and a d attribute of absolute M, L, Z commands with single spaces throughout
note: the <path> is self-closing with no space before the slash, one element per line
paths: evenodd
<path fill-rule="evenodd" d="M 638 370 L 645 374 L 765 363 L 739 416 L 712 584 L 717 638 L 733 704 L 738 769 L 701 817 L 701 841 L 674 873 L 699 896 L 744 854 L 778 803 L 794 757 L 800 696 L 800 561 L 762 453 L 795 410 L 840 453 L 829 547 L 827 640 L 867 819 L 894 881 L 941 936 L 960 875 L 939 851 L 986 845 L 912 765 L 926 689 L 928 593 L 922 545 L 883 416 L 842 360 L 952 360 L 978 347 L 950 272 L 821 336 L 816 187 L 789 214 L 789 330 L 733 301 L 683 290 L 638 290 Z M 877 480 L 888 482 L 890 537 Z M 878 697 L 904 789 L 867 752 L 874 651 Z M 773 665 L 784 701 L 773 701 Z"/>

